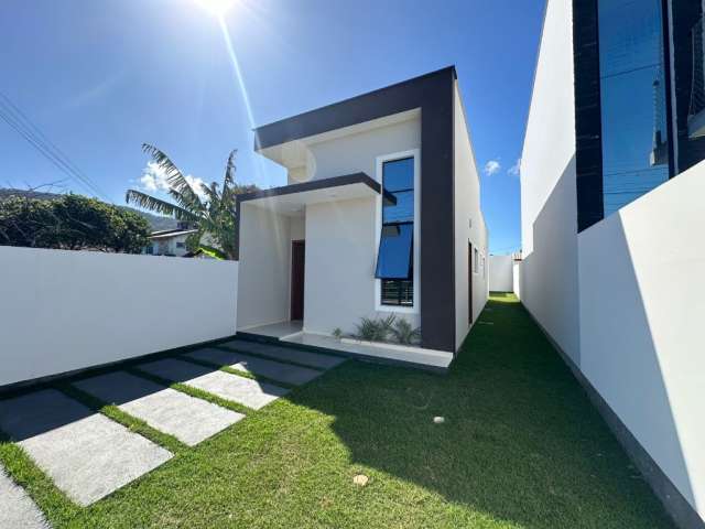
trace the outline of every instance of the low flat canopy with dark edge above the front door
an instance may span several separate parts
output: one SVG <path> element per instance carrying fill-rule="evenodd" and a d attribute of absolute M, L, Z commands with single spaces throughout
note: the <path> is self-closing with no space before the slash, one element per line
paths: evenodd
<path fill-rule="evenodd" d="M 238 212 L 241 204 L 248 204 L 282 215 L 300 216 L 304 207 L 312 204 L 375 197 L 380 193 L 379 182 L 365 173 L 354 173 L 256 191 L 238 195 L 237 201 Z M 389 196 L 388 199 L 393 201 L 394 197 Z"/>

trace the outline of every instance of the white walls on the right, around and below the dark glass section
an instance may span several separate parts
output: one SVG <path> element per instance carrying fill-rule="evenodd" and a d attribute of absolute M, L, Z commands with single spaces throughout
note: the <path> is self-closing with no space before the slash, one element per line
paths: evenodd
<path fill-rule="evenodd" d="M 578 235 L 572 34 L 572 2 L 550 0 L 521 162 L 520 298 L 705 519 L 705 162 Z"/>

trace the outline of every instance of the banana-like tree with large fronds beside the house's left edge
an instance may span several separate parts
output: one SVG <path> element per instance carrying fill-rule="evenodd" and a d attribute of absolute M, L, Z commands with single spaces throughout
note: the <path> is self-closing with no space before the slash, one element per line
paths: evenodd
<path fill-rule="evenodd" d="M 237 151 L 232 151 L 228 156 L 221 186 L 216 182 L 200 185 L 202 195 L 205 197 L 202 199 L 197 190 L 188 183 L 166 154 L 147 143 L 142 145 L 142 150 L 165 172 L 167 193 L 175 204 L 137 190 L 128 190 L 126 202 L 193 224 L 197 233 L 188 240 L 189 249 L 202 248 L 219 259 L 234 260 L 237 247 L 236 196 L 258 190 L 256 185 L 235 183 Z"/>

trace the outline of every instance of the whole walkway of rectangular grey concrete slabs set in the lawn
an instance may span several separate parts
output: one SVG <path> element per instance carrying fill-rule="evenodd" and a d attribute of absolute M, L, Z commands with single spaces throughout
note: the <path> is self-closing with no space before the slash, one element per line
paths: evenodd
<path fill-rule="evenodd" d="M 180 357 L 140 364 L 135 366 L 137 374 L 116 370 L 70 384 L 194 446 L 245 415 L 156 384 L 147 374 L 258 410 L 286 395 L 289 389 L 225 373 L 219 366 L 299 386 L 345 361 L 336 356 L 275 345 L 239 339 L 229 344 L 254 356 L 242 350 L 204 347 Z M 138 376 L 140 371 L 144 377 Z M 75 503 L 88 506 L 173 456 L 76 399 L 83 400 L 78 395 L 68 397 L 56 389 L 40 389 L 0 400 L 0 430 Z M 46 529 L 48 525 L 26 492 L 0 467 L 0 529 L 6 527 Z"/>

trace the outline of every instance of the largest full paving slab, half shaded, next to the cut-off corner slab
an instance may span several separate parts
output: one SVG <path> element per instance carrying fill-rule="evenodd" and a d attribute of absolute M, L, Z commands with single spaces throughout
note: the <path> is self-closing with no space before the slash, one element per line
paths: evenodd
<path fill-rule="evenodd" d="M 0 401 L 0 430 L 83 506 L 172 457 L 171 452 L 53 389 Z"/>

